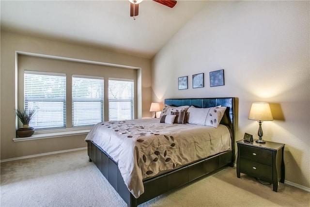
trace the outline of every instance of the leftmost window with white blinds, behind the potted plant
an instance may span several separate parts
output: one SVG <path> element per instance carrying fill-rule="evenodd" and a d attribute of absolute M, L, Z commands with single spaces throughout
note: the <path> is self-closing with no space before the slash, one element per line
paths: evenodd
<path fill-rule="evenodd" d="M 65 74 L 24 71 L 24 97 L 25 109 L 35 109 L 31 127 L 66 127 Z"/>

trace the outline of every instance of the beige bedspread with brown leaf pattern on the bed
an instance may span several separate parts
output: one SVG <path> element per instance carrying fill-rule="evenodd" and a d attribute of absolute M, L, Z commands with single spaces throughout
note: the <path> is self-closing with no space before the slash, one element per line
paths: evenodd
<path fill-rule="evenodd" d="M 231 149 L 229 129 L 165 124 L 158 119 L 109 121 L 87 135 L 118 163 L 128 190 L 138 198 L 142 180 Z"/>

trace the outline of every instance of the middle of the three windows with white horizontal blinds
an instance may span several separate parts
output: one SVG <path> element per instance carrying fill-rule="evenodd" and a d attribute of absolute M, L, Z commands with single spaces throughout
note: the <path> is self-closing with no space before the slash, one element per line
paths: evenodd
<path fill-rule="evenodd" d="M 72 76 L 72 125 L 84 127 L 104 120 L 104 80 Z"/>

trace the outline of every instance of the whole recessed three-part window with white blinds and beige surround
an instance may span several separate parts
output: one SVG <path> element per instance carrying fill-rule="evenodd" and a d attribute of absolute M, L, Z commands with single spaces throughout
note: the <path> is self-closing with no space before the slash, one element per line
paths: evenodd
<path fill-rule="evenodd" d="M 35 139 L 71 136 L 103 121 L 135 118 L 136 69 L 40 54 L 18 54 L 17 61 L 16 107 L 35 110 L 30 122 Z"/>

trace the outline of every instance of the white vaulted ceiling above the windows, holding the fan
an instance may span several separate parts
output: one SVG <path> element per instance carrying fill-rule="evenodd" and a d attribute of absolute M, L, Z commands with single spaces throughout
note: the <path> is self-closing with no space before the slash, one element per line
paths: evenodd
<path fill-rule="evenodd" d="M 170 8 L 153 0 L 1 0 L 1 30 L 106 48 L 152 58 L 207 1 L 178 0 Z"/>

